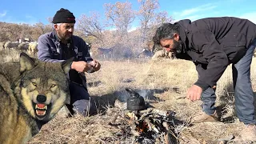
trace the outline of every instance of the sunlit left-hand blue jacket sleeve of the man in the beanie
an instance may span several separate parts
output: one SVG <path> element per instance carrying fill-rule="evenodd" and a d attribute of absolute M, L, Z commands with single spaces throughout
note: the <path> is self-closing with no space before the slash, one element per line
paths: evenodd
<path fill-rule="evenodd" d="M 45 34 L 38 38 L 38 59 L 44 62 L 63 62 L 64 60 L 54 59 L 50 50 L 50 40 Z"/>

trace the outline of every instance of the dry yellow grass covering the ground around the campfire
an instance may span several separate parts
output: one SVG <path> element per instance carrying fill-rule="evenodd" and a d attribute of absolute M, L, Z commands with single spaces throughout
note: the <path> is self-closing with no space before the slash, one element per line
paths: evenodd
<path fill-rule="evenodd" d="M 235 117 L 232 75 L 230 66 L 217 85 L 217 106 L 222 109 L 223 122 L 206 122 L 189 125 L 190 118 L 201 111 L 201 102 L 190 102 L 185 98 L 186 89 L 197 79 L 194 64 L 184 60 L 161 61 L 102 61 L 102 69 L 86 74 L 90 95 L 101 112 L 92 117 L 76 115 L 73 118 L 56 118 L 42 127 L 30 143 L 133 143 L 129 135 L 118 135 L 120 130 L 109 125 L 119 110 L 114 111 L 114 101 L 126 95 L 125 87 L 153 91 L 150 105 L 175 112 L 179 121 L 175 128 L 180 143 L 210 143 L 230 134 L 238 135 L 242 125 Z M 251 66 L 251 79 L 256 88 L 256 59 Z M 144 95 L 144 96 L 145 96 Z M 112 110 L 112 112 L 111 112 Z"/>

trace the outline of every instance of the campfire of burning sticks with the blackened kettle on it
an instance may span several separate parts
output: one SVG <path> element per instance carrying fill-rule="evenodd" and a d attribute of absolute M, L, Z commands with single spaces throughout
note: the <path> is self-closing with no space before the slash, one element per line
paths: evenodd
<path fill-rule="evenodd" d="M 118 126 L 123 134 L 133 137 L 134 142 L 177 143 L 174 112 L 148 107 L 144 99 L 134 90 L 126 89 L 126 91 L 130 93 L 126 110 L 123 114 L 118 114 L 110 125 Z"/>

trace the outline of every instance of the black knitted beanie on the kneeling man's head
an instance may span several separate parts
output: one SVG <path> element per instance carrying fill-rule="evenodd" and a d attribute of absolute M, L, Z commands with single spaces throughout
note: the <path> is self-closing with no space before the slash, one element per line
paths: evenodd
<path fill-rule="evenodd" d="M 75 17 L 70 10 L 61 8 L 54 15 L 53 23 L 75 23 Z"/>

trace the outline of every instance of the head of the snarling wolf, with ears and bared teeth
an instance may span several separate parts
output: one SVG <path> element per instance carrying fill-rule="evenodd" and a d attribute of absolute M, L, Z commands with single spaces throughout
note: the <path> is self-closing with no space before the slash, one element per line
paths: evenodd
<path fill-rule="evenodd" d="M 48 122 L 66 103 L 70 93 L 66 74 L 72 60 L 62 63 L 42 62 L 20 55 L 21 77 L 15 85 L 15 96 L 31 117 Z"/>

